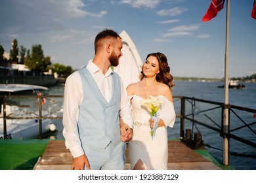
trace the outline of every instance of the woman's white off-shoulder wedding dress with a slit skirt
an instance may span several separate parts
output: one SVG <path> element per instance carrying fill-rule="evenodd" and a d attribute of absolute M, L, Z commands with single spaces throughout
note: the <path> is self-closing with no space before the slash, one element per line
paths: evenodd
<path fill-rule="evenodd" d="M 150 135 L 150 113 L 140 105 L 142 97 L 138 95 L 129 96 L 132 99 L 133 109 L 133 139 L 129 142 L 129 160 L 131 169 L 139 159 L 147 170 L 167 169 L 168 161 L 168 137 L 167 126 L 173 127 L 175 123 L 175 110 L 173 103 L 163 95 L 160 97 L 164 101 L 158 109 L 159 118 L 165 123 L 165 127 L 156 129 L 156 136 L 152 140 Z"/>

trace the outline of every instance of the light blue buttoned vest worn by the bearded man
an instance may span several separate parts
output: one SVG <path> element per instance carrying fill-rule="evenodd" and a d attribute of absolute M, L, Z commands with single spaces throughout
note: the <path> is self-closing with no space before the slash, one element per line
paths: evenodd
<path fill-rule="evenodd" d="M 78 131 L 83 149 L 86 146 L 106 148 L 120 142 L 119 108 L 121 86 L 119 76 L 112 73 L 113 94 L 108 103 L 86 67 L 78 70 L 83 84 L 83 101 L 79 105 Z"/>

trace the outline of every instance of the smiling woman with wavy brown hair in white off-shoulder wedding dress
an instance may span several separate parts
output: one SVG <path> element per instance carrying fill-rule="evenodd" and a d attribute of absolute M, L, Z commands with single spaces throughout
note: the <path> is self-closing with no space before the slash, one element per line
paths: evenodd
<path fill-rule="evenodd" d="M 173 127 L 175 123 L 171 93 L 171 87 L 175 84 L 169 72 L 170 68 L 164 54 L 148 54 L 142 65 L 140 81 L 127 86 L 127 94 L 133 108 L 133 139 L 129 142 L 131 169 L 167 169 L 167 127 Z M 150 135 L 154 120 L 140 103 L 150 95 L 158 97 L 164 103 L 158 109 L 159 122 L 154 139 Z"/>

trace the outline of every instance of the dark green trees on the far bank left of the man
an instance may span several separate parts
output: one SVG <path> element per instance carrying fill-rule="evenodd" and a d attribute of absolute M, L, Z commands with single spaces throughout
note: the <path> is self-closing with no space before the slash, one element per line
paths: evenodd
<path fill-rule="evenodd" d="M 12 47 L 10 50 L 10 59 L 3 56 L 5 49 L 0 45 L 0 65 L 1 63 L 18 63 L 24 64 L 33 72 L 43 73 L 49 72 L 57 73 L 58 76 L 67 77 L 74 72 L 71 66 L 62 65 L 60 63 L 52 63 L 50 56 L 43 54 L 43 48 L 41 44 L 33 44 L 30 49 L 20 45 L 18 48 L 18 41 L 14 39 L 12 41 Z"/>

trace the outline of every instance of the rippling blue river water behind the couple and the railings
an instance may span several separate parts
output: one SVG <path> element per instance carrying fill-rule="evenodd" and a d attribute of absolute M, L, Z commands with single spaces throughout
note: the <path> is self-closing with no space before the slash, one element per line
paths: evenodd
<path fill-rule="evenodd" d="M 186 96 L 186 97 L 196 97 L 198 99 L 205 99 L 208 101 L 217 101 L 224 102 L 224 88 L 217 88 L 217 86 L 223 85 L 223 82 L 186 82 L 186 81 L 177 81 L 175 82 L 176 86 L 173 88 L 174 96 Z M 53 86 L 49 88 L 48 93 L 45 95 L 63 95 L 64 94 L 64 86 Z M 255 83 L 245 83 L 245 89 L 237 90 L 237 89 L 229 89 L 229 103 L 231 105 L 237 105 L 240 107 L 253 108 L 256 109 L 256 84 Z M 179 102 L 175 103 L 175 110 L 179 111 L 180 106 Z M 202 110 L 200 105 L 196 106 L 196 110 Z M 186 112 L 187 113 L 187 112 Z M 214 118 L 216 121 L 220 121 L 221 119 L 221 109 L 216 111 L 210 111 L 207 113 L 208 116 Z M 242 114 L 243 115 L 243 114 Z M 199 116 L 198 118 L 205 118 L 205 116 Z M 230 115 L 231 118 L 231 115 Z M 255 118 L 251 118 L 249 116 L 251 122 L 255 122 Z M 179 138 L 179 127 L 180 127 L 180 119 L 177 118 L 175 125 L 172 129 L 168 129 L 169 138 L 177 139 Z M 251 125 L 251 127 L 256 131 L 256 125 Z M 214 148 L 207 148 L 213 156 L 219 158 L 222 162 L 223 152 L 221 150 L 216 150 L 215 148 L 223 149 L 222 147 L 222 137 L 220 137 L 219 133 L 215 131 L 211 131 L 209 129 L 203 128 L 200 125 L 197 125 L 200 133 L 202 133 L 202 139 L 204 143 L 210 144 Z M 197 129 L 194 126 L 194 131 Z M 192 123 L 186 123 L 186 128 L 192 128 Z M 57 131 L 51 136 L 54 135 L 55 139 L 64 139 L 62 135 L 62 124 L 58 124 L 56 127 Z M 239 137 L 243 137 L 244 139 L 254 139 L 256 140 L 256 135 L 251 133 L 250 131 L 238 131 L 236 134 Z M 254 141 L 255 142 L 255 141 Z M 251 157 L 241 157 L 241 156 L 233 156 L 230 155 L 230 165 L 235 169 L 256 169 L 256 150 L 255 148 L 251 148 L 250 146 L 244 145 L 238 141 L 230 140 L 230 152 L 242 152 L 247 155 L 253 155 L 254 158 Z"/>

